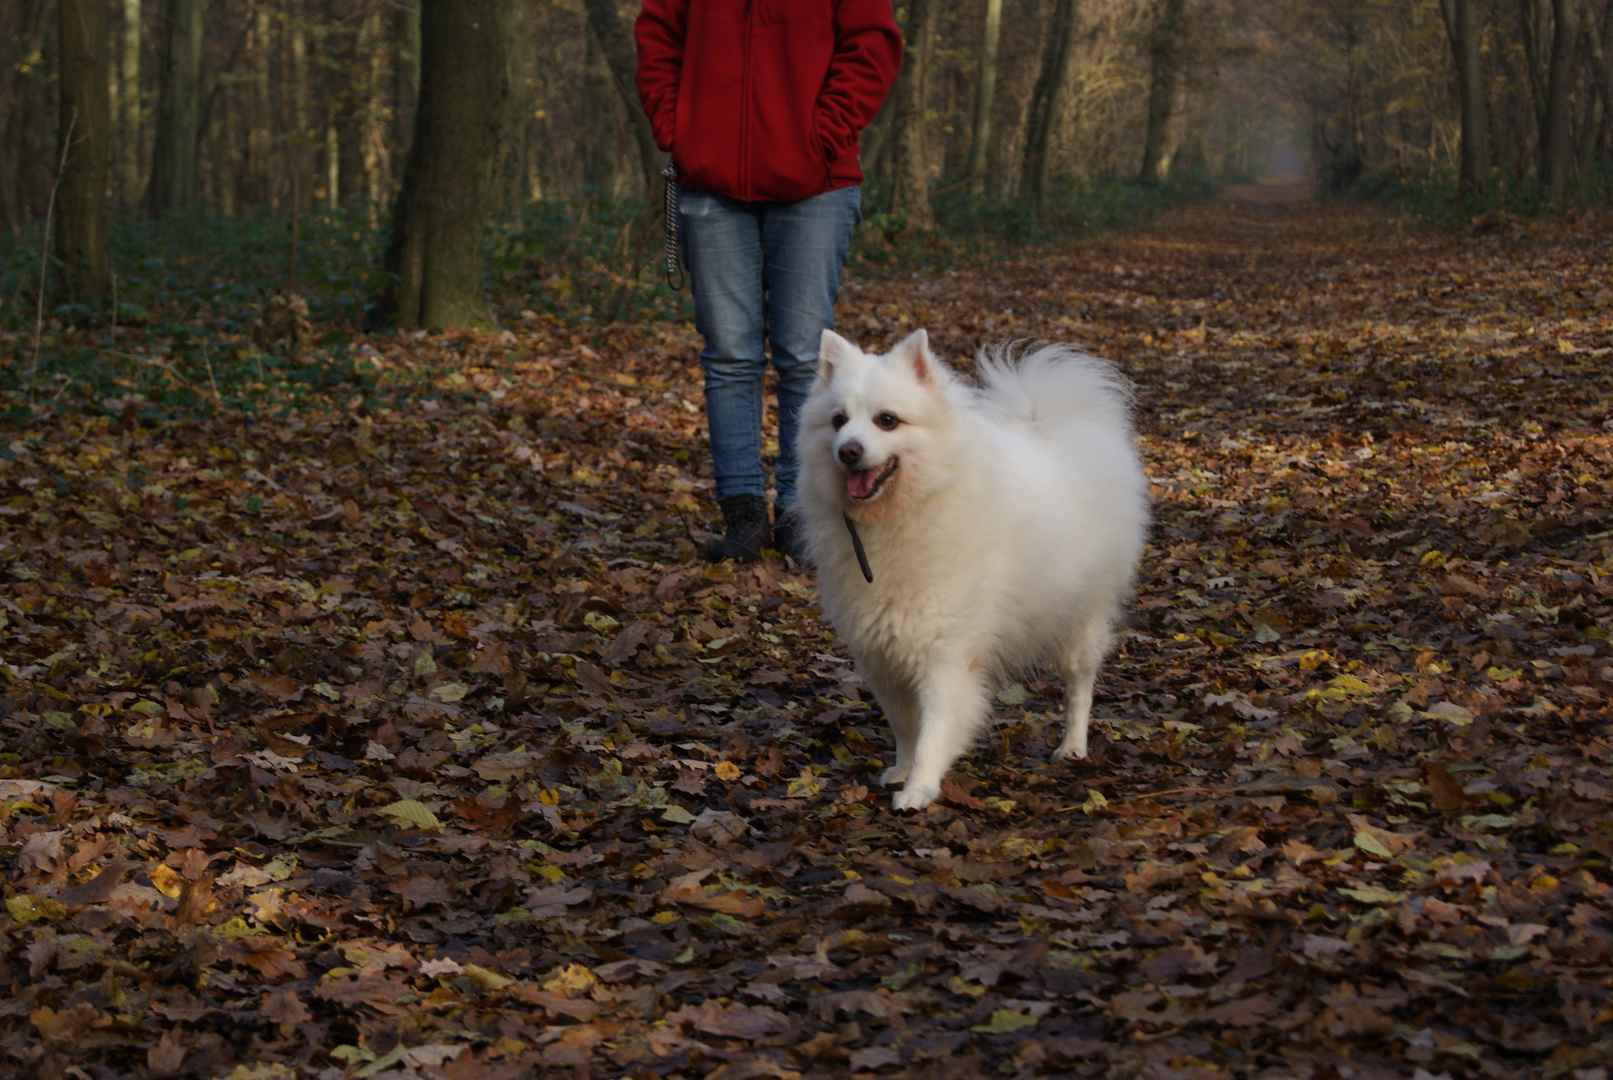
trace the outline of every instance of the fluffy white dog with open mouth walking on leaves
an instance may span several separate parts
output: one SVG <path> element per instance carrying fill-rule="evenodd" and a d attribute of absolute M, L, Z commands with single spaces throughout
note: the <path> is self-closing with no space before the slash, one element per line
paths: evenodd
<path fill-rule="evenodd" d="M 897 738 L 886 785 L 923 809 L 998 687 L 1050 664 L 1057 761 L 1087 756 L 1092 682 L 1148 530 L 1131 392 L 1065 345 L 984 350 L 973 387 L 924 330 L 884 356 L 823 332 L 802 409 L 798 522 L 823 613 Z"/>

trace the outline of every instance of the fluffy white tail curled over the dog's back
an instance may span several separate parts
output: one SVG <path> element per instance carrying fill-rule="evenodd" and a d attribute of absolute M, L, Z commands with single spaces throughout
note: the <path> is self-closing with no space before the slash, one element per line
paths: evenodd
<path fill-rule="evenodd" d="M 1098 421 L 1131 430 L 1131 382 L 1069 345 L 989 345 L 976 372 L 987 406 L 1024 424 Z"/>

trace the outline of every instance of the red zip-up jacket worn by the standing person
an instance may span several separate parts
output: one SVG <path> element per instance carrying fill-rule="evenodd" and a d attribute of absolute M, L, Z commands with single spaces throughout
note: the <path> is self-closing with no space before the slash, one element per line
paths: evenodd
<path fill-rule="evenodd" d="M 644 0 L 639 100 L 677 179 L 790 203 L 863 181 L 902 66 L 890 0 Z"/>

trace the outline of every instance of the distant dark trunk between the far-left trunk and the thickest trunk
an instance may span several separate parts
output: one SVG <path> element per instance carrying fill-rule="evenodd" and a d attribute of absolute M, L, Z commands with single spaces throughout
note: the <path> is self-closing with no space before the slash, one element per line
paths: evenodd
<path fill-rule="evenodd" d="M 203 0 L 166 0 L 163 60 L 156 90 L 156 148 L 148 208 L 153 218 L 197 197 L 197 135 L 202 123 Z"/>

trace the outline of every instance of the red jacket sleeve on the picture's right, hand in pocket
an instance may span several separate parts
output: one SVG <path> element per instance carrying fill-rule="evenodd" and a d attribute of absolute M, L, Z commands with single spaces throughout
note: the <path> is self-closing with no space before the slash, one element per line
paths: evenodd
<path fill-rule="evenodd" d="M 890 0 L 837 0 L 834 56 L 818 92 L 816 111 L 818 139 L 829 161 L 857 145 L 900 69 L 902 31 Z"/>

